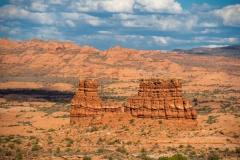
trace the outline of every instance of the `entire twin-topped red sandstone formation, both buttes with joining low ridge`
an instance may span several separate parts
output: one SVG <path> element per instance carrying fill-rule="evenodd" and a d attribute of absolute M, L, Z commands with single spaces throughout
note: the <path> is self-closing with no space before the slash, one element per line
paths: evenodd
<path fill-rule="evenodd" d="M 106 103 L 97 94 L 97 79 L 80 79 L 71 103 L 71 121 L 105 112 L 130 114 L 142 118 L 197 119 L 197 112 L 182 99 L 182 80 L 142 79 L 138 94 L 119 103 Z"/>

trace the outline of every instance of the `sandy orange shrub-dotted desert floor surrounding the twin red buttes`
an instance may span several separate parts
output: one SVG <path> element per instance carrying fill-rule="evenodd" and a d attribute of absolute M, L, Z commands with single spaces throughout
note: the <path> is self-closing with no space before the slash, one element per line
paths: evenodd
<path fill-rule="evenodd" d="M 101 114 L 70 123 L 76 82 L 2 81 L 0 159 L 158 159 L 176 153 L 240 159 L 240 77 L 202 70 L 183 77 L 183 96 L 198 111 L 197 121 Z M 124 102 L 138 91 L 137 79 L 110 82 L 99 87 L 103 99 Z"/>

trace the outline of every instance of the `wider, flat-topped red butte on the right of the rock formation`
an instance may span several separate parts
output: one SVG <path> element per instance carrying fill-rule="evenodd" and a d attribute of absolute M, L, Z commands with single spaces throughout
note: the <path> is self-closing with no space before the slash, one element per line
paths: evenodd
<path fill-rule="evenodd" d="M 142 79 L 138 94 L 128 99 L 126 112 L 136 117 L 196 119 L 197 112 L 182 99 L 182 80 Z"/>

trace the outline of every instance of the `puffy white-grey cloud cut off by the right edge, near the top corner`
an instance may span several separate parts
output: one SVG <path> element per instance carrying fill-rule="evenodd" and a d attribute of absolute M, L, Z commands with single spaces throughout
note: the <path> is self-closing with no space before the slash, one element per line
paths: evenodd
<path fill-rule="evenodd" d="M 229 5 L 222 9 L 214 10 L 213 14 L 223 19 L 226 26 L 240 27 L 240 4 Z"/>

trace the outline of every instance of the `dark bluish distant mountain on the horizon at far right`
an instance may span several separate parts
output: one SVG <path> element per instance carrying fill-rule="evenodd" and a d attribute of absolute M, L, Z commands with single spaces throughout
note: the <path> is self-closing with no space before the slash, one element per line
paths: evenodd
<path fill-rule="evenodd" d="M 200 48 L 193 48 L 189 50 L 174 49 L 172 51 L 178 52 L 178 53 L 187 53 L 187 54 L 218 55 L 218 56 L 240 58 L 240 44 L 225 46 L 225 47 L 216 47 L 216 48 L 200 47 Z"/>

